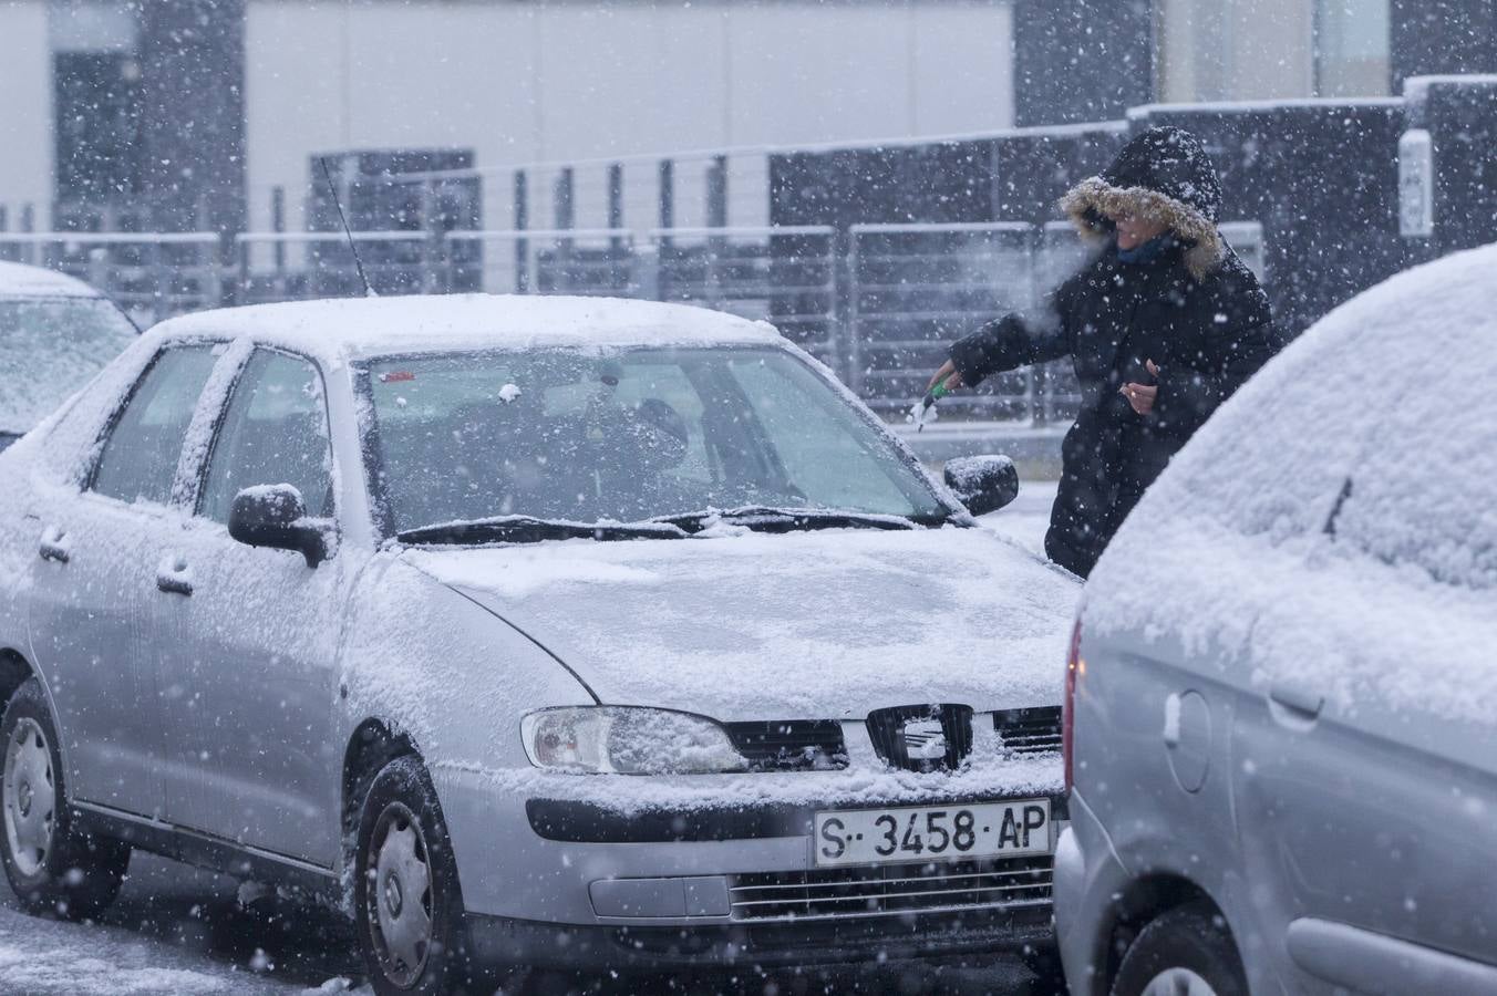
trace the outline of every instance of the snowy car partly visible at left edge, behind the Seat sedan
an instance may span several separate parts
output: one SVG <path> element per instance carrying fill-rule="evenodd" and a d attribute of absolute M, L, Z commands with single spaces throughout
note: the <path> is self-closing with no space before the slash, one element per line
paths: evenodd
<path fill-rule="evenodd" d="M 81 280 L 0 262 L 0 450 L 88 383 L 135 336 L 130 319 Z"/>

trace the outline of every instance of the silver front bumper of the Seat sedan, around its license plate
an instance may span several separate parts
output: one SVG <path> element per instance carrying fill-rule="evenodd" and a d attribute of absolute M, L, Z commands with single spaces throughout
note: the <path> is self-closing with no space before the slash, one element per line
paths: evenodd
<path fill-rule="evenodd" d="M 847 802 L 835 791 L 831 803 L 787 799 L 772 788 L 789 781 L 737 778 L 759 788 L 753 799 L 629 811 L 548 799 L 536 779 L 496 793 L 493 778 L 437 772 L 478 953 L 564 966 L 804 965 L 1051 942 L 1049 854 L 817 869 L 814 814 Z M 951 782 L 954 791 L 919 799 L 864 794 L 856 808 L 1043 796 L 1054 849 L 1066 820 L 1054 787 L 1015 793 L 993 791 L 991 778 Z M 816 782 L 793 784 L 804 791 Z M 972 791 L 979 785 L 988 791 Z"/>

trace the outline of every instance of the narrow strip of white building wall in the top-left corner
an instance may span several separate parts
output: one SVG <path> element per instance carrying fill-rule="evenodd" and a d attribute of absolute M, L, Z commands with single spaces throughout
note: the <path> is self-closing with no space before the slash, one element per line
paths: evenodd
<path fill-rule="evenodd" d="M 51 226 L 52 58 L 45 0 L 0 0 L 0 205 L 12 230 L 25 205 Z"/>

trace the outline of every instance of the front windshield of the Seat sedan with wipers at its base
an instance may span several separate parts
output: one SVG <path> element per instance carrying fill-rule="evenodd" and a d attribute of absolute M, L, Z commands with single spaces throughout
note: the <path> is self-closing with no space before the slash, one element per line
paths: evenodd
<path fill-rule="evenodd" d="M 594 535 L 681 535 L 734 510 L 774 531 L 949 513 L 888 437 L 778 348 L 448 353 L 373 360 L 361 383 L 376 504 L 413 540 L 648 519 L 677 528 Z M 488 528 L 440 528 L 455 523 Z"/>

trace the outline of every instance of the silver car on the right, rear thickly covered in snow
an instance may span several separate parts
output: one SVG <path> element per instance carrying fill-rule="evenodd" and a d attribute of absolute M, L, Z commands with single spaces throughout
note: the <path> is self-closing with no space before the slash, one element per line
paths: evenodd
<path fill-rule="evenodd" d="M 1497 993 L 1497 245 L 1374 287 L 1088 582 L 1070 992 Z"/>

